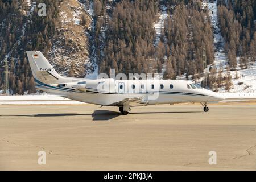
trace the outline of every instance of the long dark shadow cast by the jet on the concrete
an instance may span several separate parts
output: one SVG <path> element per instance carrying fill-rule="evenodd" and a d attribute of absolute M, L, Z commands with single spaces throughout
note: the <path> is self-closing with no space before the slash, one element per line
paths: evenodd
<path fill-rule="evenodd" d="M 203 111 L 156 111 L 156 112 L 131 112 L 131 114 L 174 114 L 174 113 L 202 113 Z M 95 110 L 92 114 L 79 113 L 51 113 L 51 114 L 24 114 L 24 115 L 0 115 L 0 116 L 16 116 L 16 117 L 64 117 L 76 115 L 92 115 L 93 121 L 108 121 L 110 119 L 121 116 L 122 114 L 110 110 Z"/>

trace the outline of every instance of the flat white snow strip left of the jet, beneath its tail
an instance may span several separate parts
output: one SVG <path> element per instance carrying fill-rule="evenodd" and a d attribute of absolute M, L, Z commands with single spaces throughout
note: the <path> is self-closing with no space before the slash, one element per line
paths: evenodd
<path fill-rule="evenodd" d="M 12 104 L 85 104 L 55 95 L 0 96 L 0 105 Z"/>

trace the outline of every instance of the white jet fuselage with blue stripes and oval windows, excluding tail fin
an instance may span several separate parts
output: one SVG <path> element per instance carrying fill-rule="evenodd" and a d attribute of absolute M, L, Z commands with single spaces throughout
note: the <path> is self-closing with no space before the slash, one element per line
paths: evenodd
<path fill-rule="evenodd" d="M 225 99 L 218 93 L 200 88 L 200 86 L 196 87 L 193 82 L 185 80 L 114 80 L 112 78 L 88 80 L 67 78 L 67 82 L 62 84 L 47 85 L 37 80 L 36 82 L 36 87 L 45 92 L 97 105 L 121 106 L 118 102 L 127 98 L 141 98 L 139 102 L 130 102 L 130 106 L 214 102 Z"/>

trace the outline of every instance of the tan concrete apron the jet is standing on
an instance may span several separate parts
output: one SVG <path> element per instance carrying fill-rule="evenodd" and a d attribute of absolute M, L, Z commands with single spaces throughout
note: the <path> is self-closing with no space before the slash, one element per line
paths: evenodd
<path fill-rule="evenodd" d="M 255 170 L 256 104 L 208 106 L 0 105 L 0 169 Z"/>

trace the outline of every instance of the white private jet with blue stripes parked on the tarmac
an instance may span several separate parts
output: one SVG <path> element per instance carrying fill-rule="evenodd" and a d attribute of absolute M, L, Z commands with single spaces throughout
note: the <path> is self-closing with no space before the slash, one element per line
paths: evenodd
<path fill-rule="evenodd" d="M 207 102 L 225 100 L 221 94 L 201 88 L 187 80 L 122 80 L 60 76 L 40 51 L 26 51 L 36 88 L 80 102 L 116 106 L 123 115 L 130 107 L 158 104 L 200 102 L 208 112 Z"/>

